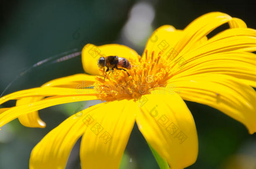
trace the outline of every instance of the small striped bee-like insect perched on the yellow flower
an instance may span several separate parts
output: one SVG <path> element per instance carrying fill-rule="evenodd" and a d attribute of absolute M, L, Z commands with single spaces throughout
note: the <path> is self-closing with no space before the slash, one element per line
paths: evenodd
<path fill-rule="evenodd" d="M 105 72 L 108 72 L 113 69 L 124 70 L 124 71 L 126 71 L 124 68 L 131 69 L 131 63 L 127 59 L 121 58 L 118 56 L 100 57 L 98 60 L 98 66 L 99 66 L 99 68 L 104 68 L 104 70 L 106 67 L 107 70 Z M 126 71 L 126 72 L 127 72 L 128 76 L 130 76 L 128 71 Z M 109 73 L 107 74 L 107 77 L 108 77 L 108 75 L 109 75 Z M 105 77 L 104 77 L 104 79 L 105 79 Z"/>

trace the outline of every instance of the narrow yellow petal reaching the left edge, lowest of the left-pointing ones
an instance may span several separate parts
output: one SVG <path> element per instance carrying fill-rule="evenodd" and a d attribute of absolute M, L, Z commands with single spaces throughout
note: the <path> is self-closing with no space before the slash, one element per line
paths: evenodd
<path fill-rule="evenodd" d="M 12 121 L 13 119 L 16 119 L 19 116 L 22 116 L 24 114 L 31 113 L 33 111 L 37 111 L 43 108 L 47 108 L 50 106 L 55 106 L 58 104 L 63 103 L 71 103 L 76 101 L 87 101 L 87 100 L 96 100 L 97 96 L 53 96 L 45 98 L 41 101 L 23 104 L 20 106 L 12 107 L 6 111 L 4 111 L 2 114 L 0 114 L 0 127 L 7 124 L 8 122 Z"/>

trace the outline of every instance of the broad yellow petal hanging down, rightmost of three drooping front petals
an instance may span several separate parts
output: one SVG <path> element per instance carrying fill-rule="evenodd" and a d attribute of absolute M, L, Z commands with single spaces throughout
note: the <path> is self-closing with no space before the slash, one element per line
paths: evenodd
<path fill-rule="evenodd" d="M 152 93 L 138 101 L 141 109 L 136 118 L 138 128 L 171 169 L 190 166 L 198 155 L 198 138 L 191 112 L 176 93 L 157 90 Z"/>

